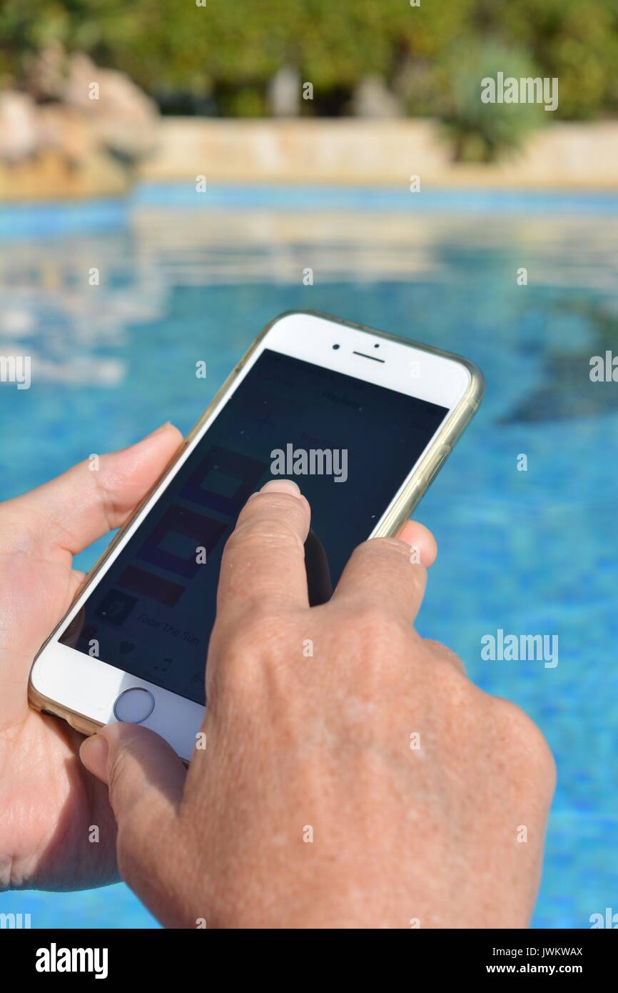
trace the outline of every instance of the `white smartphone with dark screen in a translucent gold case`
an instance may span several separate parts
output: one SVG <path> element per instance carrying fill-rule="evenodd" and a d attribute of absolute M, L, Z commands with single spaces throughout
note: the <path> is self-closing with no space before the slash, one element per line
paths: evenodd
<path fill-rule="evenodd" d="M 275 318 L 39 651 L 31 705 L 83 734 L 144 724 L 188 761 L 221 554 L 247 498 L 275 477 L 299 484 L 322 603 L 359 542 L 409 517 L 482 392 L 458 355 L 317 312 Z"/>

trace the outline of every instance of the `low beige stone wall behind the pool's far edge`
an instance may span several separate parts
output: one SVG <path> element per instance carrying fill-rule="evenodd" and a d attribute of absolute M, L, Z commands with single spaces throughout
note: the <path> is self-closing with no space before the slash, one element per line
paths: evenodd
<path fill-rule="evenodd" d="M 408 188 L 618 189 L 618 122 L 551 124 L 498 165 L 454 164 L 430 120 L 164 118 L 142 177 Z"/>

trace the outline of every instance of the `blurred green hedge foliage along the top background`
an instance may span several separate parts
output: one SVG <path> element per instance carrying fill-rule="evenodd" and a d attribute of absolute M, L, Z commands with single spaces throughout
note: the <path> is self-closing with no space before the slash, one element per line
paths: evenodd
<path fill-rule="evenodd" d="M 51 43 L 128 72 L 164 109 L 186 99 L 198 110 L 208 98 L 210 112 L 265 113 L 268 81 L 293 65 L 313 84 L 305 112 L 341 112 L 358 81 L 378 73 L 409 113 L 451 124 L 459 113 L 471 126 L 471 102 L 445 82 L 453 53 L 473 70 L 470 46 L 502 46 L 506 74 L 517 58 L 557 76 L 553 118 L 618 109 L 618 0 L 0 0 L 5 84 L 23 81 Z"/>

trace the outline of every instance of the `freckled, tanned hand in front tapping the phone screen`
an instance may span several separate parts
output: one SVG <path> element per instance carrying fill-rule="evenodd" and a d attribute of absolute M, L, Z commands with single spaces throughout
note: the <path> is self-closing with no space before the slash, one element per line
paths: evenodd
<path fill-rule="evenodd" d="M 413 629 L 425 528 L 365 542 L 310 610 L 308 529 L 289 482 L 240 514 L 186 777 L 138 726 L 83 743 L 123 877 L 171 926 L 526 926 L 555 781 L 543 736 Z"/>

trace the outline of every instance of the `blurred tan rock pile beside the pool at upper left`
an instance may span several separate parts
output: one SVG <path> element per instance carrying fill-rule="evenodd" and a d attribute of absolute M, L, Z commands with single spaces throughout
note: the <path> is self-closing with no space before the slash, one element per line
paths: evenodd
<path fill-rule="evenodd" d="M 0 200 L 126 192 L 155 145 L 155 103 L 122 72 L 59 46 L 33 62 L 24 85 L 0 93 Z"/>

